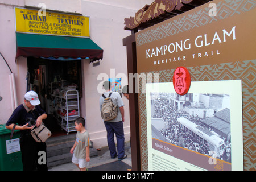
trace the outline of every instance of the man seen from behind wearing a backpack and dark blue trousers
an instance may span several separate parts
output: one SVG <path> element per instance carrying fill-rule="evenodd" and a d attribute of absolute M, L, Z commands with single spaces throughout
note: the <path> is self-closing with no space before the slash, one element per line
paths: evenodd
<path fill-rule="evenodd" d="M 110 81 L 105 81 L 103 87 L 106 92 L 100 97 L 100 110 L 107 131 L 110 156 L 112 159 L 118 156 L 119 160 L 123 160 L 127 157 L 123 131 L 123 122 L 125 121 L 124 104 L 118 92 L 110 91 Z M 117 138 L 117 151 L 115 149 L 114 135 Z"/>

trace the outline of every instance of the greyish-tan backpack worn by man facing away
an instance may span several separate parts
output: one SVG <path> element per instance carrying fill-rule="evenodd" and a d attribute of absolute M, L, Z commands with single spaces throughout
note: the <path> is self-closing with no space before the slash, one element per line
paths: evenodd
<path fill-rule="evenodd" d="M 102 94 L 102 97 L 104 98 L 104 102 L 102 103 L 101 108 L 101 117 L 104 121 L 110 121 L 117 117 L 117 105 L 114 105 L 112 99 L 110 98 L 112 92 L 109 93 L 109 96 L 106 97 L 104 94 Z"/>

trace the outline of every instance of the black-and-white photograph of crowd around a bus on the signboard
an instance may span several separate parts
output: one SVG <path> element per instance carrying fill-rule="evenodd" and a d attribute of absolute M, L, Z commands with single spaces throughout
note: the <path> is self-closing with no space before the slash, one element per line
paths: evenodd
<path fill-rule="evenodd" d="M 228 94 L 151 93 L 152 138 L 231 163 Z"/>

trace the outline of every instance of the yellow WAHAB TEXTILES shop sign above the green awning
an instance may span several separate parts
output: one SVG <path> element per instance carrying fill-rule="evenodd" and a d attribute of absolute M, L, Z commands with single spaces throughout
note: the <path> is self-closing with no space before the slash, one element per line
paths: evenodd
<path fill-rule="evenodd" d="M 89 17 L 15 8 L 16 32 L 90 37 Z"/>

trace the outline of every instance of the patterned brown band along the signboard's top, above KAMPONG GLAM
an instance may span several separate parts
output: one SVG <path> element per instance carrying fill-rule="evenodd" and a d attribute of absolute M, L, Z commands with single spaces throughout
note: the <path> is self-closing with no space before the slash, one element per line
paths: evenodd
<path fill-rule="evenodd" d="M 154 28 L 139 34 L 137 37 L 137 46 L 153 42 L 155 40 L 166 39 L 170 36 L 193 30 L 196 27 L 205 26 L 218 20 L 232 17 L 236 14 L 242 14 L 255 8 L 254 0 L 221 1 L 217 4 L 217 16 L 209 16 L 209 7 L 199 11 L 180 15 L 178 20 L 168 21 L 163 26 Z M 188 11 L 189 12 L 189 11 Z"/>

